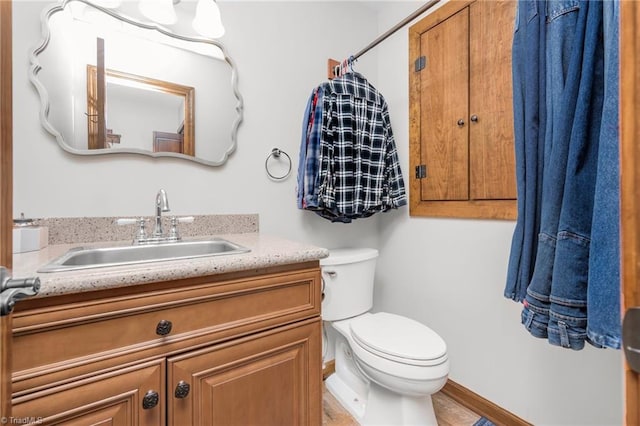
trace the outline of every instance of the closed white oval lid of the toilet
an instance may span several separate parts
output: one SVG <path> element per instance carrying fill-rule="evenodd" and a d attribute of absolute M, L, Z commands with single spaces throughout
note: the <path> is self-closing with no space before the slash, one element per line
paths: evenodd
<path fill-rule="evenodd" d="M 361 347 L 394 361 L 428 365 L 447 354 L 447 345 L 438 334 L 400 315 L 387 312 L 363 315 L 355 318 L 350 328 Z"/>

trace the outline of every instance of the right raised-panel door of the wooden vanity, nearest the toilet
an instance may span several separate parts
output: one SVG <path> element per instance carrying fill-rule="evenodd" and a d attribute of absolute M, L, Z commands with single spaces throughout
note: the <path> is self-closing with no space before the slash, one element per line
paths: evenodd
<path fill-rule="evenodd" d="M 318 318 L 168 360 L 168 425 L 320 425 Z"/>

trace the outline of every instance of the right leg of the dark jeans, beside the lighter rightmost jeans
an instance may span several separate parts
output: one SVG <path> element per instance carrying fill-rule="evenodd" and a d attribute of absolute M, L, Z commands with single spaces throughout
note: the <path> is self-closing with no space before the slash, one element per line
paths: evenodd
<path fill-rule="evenodd" d="M 584 346 L 587 330 L 589 256 L 604 102 L 602 4 L 589 3 L 551 288 L 549 342 L 574 349 Z"/>

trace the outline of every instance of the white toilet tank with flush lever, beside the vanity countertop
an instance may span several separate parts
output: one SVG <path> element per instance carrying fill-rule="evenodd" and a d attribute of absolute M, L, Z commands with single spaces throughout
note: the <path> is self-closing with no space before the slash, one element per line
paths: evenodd
<path fill-rule="evenodd" d="M 376 249 L 343 248 L 329 250 L 329 257 L 320 260 L 324 321 L 355 317 L 371 309 L 377 257 Z"/>

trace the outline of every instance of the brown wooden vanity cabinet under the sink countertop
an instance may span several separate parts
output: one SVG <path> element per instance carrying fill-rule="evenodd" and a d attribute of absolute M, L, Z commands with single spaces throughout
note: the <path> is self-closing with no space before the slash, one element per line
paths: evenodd
<path fill-rule="evenodd" d="M 24 301 L 13 417 L 320 425 L 318 262 Z"/>

